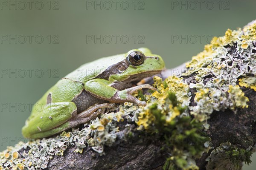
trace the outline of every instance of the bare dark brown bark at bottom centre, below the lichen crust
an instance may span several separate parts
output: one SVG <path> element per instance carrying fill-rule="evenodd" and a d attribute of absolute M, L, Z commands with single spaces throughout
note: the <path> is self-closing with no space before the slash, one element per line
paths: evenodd
<path fill-rule="evenodd" d="M 119 131 L 117 141 L 113 146 L 105 147 L 106 154 L 103 156 L 99 156 L 90 147 L 87 147 L 82 154 L 74 152 L 75 147 L 70 147 L 64 156 L 55 156 L 49 162 L 48 168 L 49 170 L 148 170 L 163 165 L 165 153 L 160 150 L 162 144 L 159 140 L 139 133 L 136 133 L 131 140 L 122 140 L 122 136 L 131 129 L 132 127 Z"/>

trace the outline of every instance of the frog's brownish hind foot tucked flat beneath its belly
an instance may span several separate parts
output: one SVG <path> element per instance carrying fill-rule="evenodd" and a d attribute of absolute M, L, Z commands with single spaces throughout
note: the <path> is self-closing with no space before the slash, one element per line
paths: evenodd
<path fill-rule="evenodd" d="M 87 110 L 79 113 L 76 115 L 72 120 L 69 121 L 69 123 L 72 125 L 79 125 L 81 123 L 88 122 L 91 119 L 96 118 L 100 113 L 102 113 L 102 109 L 106 108 L 114 108 L 114 103 L 103 103 L 99 105 L 94 105 Z"/>

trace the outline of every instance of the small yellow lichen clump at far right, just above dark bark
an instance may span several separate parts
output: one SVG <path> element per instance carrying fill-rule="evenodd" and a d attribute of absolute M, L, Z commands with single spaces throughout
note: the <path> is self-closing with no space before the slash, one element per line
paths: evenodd
<path fill-rule="evenodd" d="M 237 108 L 248 108 L 247 102 L 249 99 L 244 96 L 244 92 L 241 91 L 239 85 L 229 85 L 229 90 L 227 92 L 230 94 L 230 98 L 233 100 L 233 104 Z"/>

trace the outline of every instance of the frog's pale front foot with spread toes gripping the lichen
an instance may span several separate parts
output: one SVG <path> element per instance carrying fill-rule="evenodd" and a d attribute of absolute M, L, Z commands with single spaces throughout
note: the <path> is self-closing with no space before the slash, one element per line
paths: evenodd
<path fill-rule="evenodd" d="M 138 86 L 135 86 L 135 87 L 132 87 L 132 88 L 127 88 L 127 89 L 122 90 L 122 91 L 117 91 L 117 93 L 115 94 L 115 96 L 113 96 L 113 98 L 116 99 L 116 100 L 121 99 L 121 100 L 125 100 L 125 101 L 128 101 L 128 102 L 133 102 L 133 103 L 136 103 L 139 106 L 145 106 L 147 104 L 145 101 L 140 101 L 136 97 L 132 96 L 132 94 L 135 91 L 138 91 L 142 88 L 157 90 L 156 88 L 154 88 L 151 85 L 138 85 Z M 124 99 L 122 99 L 122 98 L 124 98 Z"/>

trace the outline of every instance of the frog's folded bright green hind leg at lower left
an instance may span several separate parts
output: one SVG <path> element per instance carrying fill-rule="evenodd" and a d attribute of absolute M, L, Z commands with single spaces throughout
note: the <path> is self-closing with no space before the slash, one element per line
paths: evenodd
<path fill-rule="evenodd" d="M 33 112 L 22 128 L 22 134 L 35 139 L 54 135 L 67 129 L 67 122 L 76 115 L 77 108 L 73 102 L 49 103 L 41 111 Z"/>

